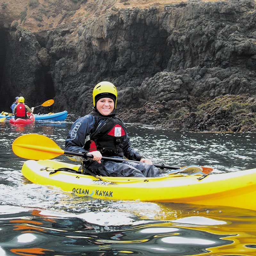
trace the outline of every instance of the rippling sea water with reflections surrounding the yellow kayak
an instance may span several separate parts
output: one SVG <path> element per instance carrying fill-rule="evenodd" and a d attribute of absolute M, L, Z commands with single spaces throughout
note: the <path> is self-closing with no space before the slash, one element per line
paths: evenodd
<path fill-rule="evenodd" d="M 39 133 L 64 148 L 74 120 L 0 123 L 0 255 L 256 255 L 255 212 L 231 207 L 104 201 L 26 180 L 12 141 Z M 155 163 L 253 168 L 255 134 L 188 133 L 127 124 L 134 148 Z M 71 162 L 65 156 L 56 158 Z M 254 199 L 252 199 L 254 200 Z"/>

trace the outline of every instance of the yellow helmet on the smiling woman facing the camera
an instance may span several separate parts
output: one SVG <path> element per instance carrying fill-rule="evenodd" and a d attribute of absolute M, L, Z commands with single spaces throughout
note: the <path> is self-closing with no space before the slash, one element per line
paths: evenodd
<path fill-rule="evenodd" d="M 116 108 L 117 90 L 116 86 L 110 82 L 103 81 L 96 84 L 92 91 L 93 106 L 96 107 L 96 103 L 101 98 L 111 98 L 114 100 Z"/>

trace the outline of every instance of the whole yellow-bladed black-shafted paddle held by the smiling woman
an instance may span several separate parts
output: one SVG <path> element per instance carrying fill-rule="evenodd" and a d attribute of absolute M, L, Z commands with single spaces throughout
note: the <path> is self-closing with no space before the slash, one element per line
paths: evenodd
<path fill-rule="evenodd" d="M 12 143 L 12 151 L 15 155 L 19 157 L 26 158 L 26 159 L 33 159 L 33 160 L 52 159 L 60 155 L 84 157 L 84 154 L 82 153 L 63 150 L 50 138 L 44 135 L 36 134 L 36 133 L 24 134 L 18 137 Z M 86 157 L 93 158 L 93 156 L 89 154 L 87 154 Z M 114 162 L 129 161 L 129 162 L 141 163 L 139 161 L 126 160 L 126 159 L 114 158 L 114 157 L 105 157 L 105 156 L 102 156 L 102 160 L 110 160 Z M 170 166 L 166 164 L 153 164 L 153 165 L 162 169 L 165 168 L 165 169 L 180 170 L 180 167 L 177 167 L 177 166 Z M 192 166 L 189 166 L 189 168 L 191 167 Z M 198 168 L 196 167 L 197 166 L 193 166 L 194 171 L 191 171 L 191 172 L 197 171 L 197 172 L 204 172 L 205 174 L 208 174 L 213 170 L 210 167 L 199 167 L 199 166 Z M 173 173 L 170 173 L 170 174 L 173 174 Z"/>

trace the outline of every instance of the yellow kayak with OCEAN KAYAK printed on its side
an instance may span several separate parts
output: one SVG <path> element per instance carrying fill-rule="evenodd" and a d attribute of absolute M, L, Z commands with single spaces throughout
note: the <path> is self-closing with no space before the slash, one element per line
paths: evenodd
<path fill-rule="evenodd" d="M 80 165 L 54 160 L 28 160 L 22 174 L 33 183 L 50 185 L 77 196 L 110 200 L 140 200 L 208 206 L 231 206 L 256 210 L 256 168 L 230 173 L 199 176 L 178 174 L 160 178 L 101 177 L 58 171 L 67 167 L 78 170 Z M 50 170 L 40 170 L 49 167 Z"/>

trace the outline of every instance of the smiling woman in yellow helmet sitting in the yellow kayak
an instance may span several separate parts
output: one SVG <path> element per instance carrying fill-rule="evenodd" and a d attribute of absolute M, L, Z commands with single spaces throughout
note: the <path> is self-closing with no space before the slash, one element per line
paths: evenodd
<path fill-rule="evenodd" d="M 165 174 L 152 165 L 150 159 L 130 146 L 123 122 L 112 113 L 116 108 L 117 91 L 114 84 L 100 82 L 92 92 L 93 111 L 78 118 L 68 132 L 65 150 L 84 153 L 85 159 L 68 156 L 83 162 L 83 173 L 112 177 L 161 177 Z M 93 156 L 86 159 L 86 154 Z M 116 163 L 102 156 L 140 161 Z"/>

